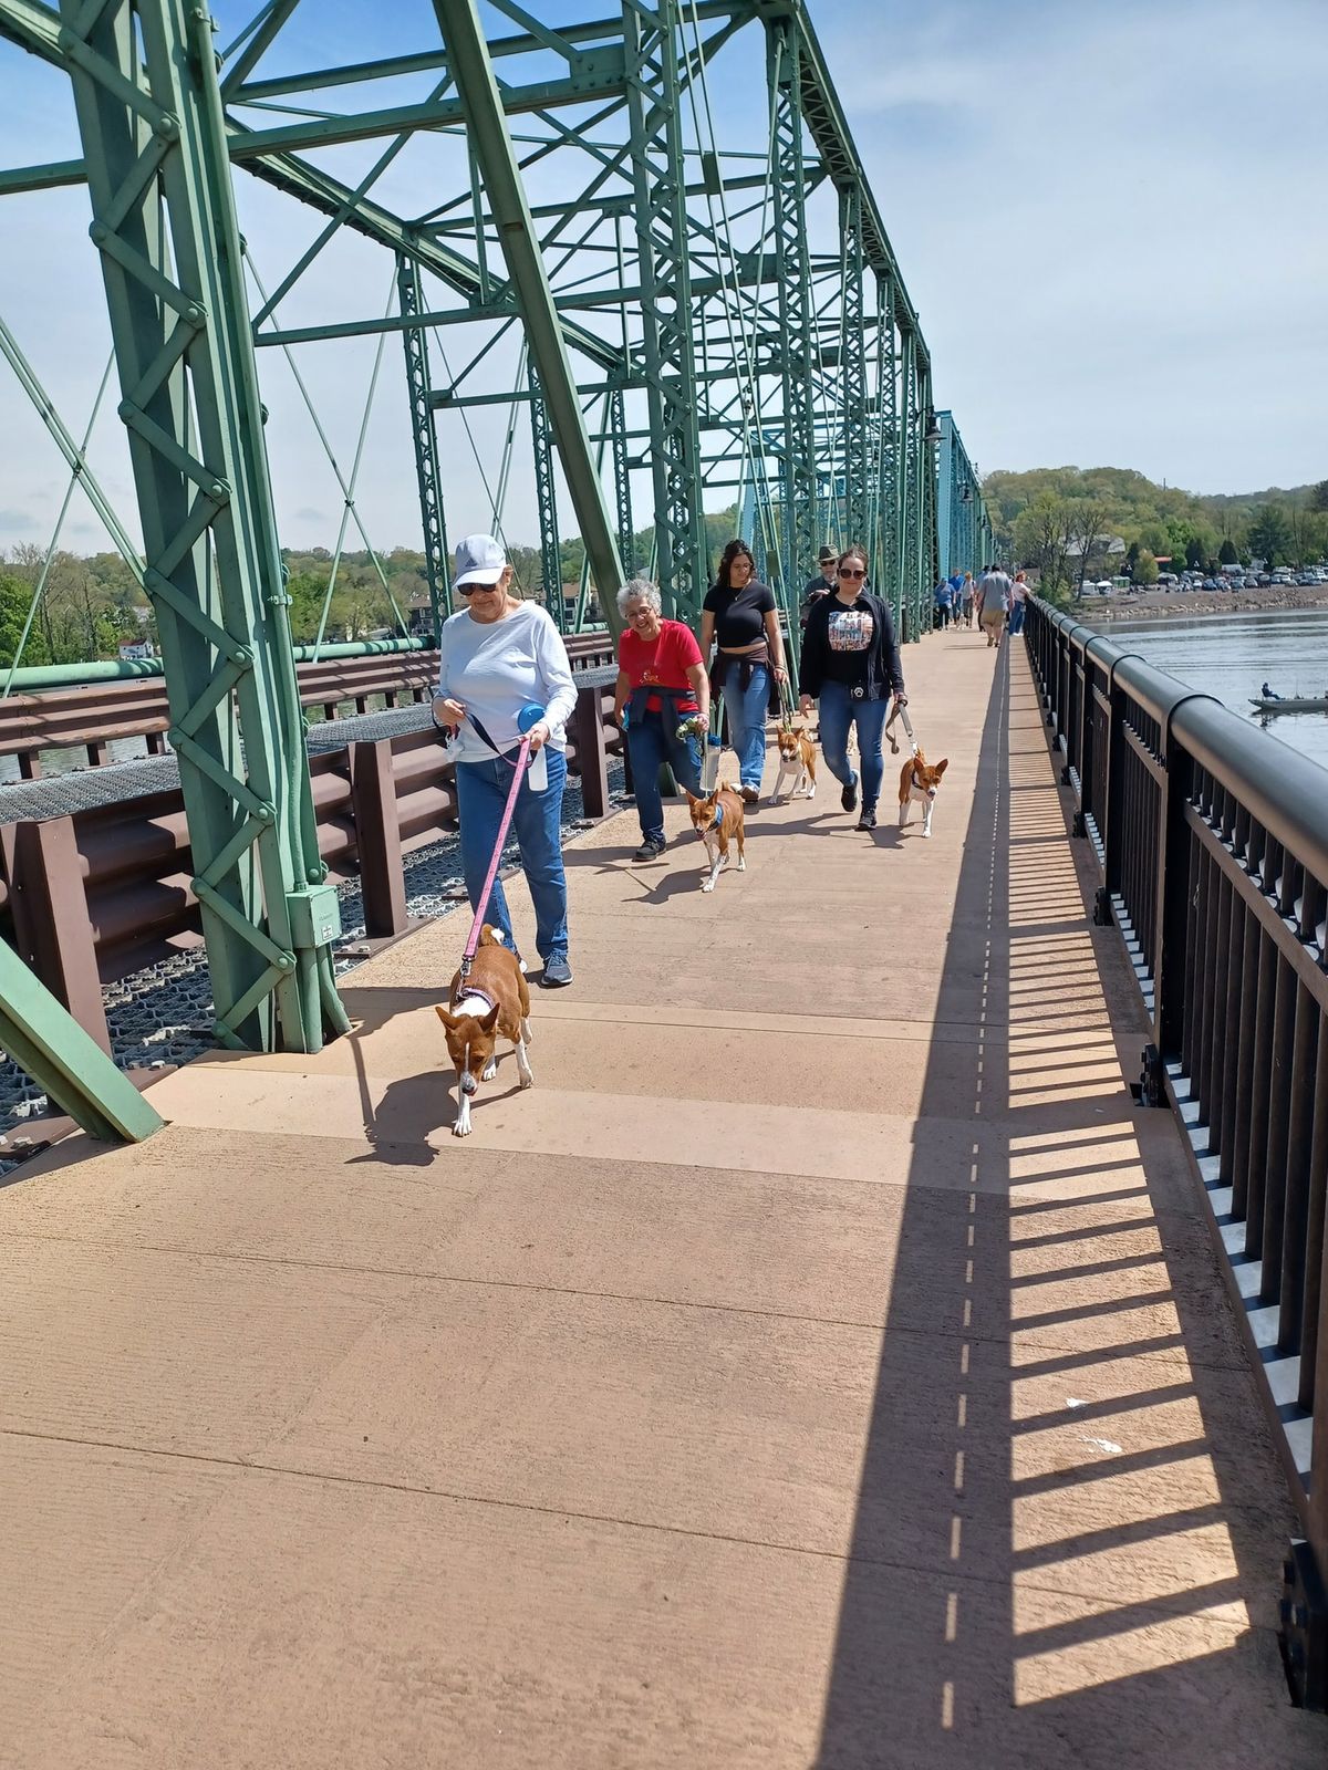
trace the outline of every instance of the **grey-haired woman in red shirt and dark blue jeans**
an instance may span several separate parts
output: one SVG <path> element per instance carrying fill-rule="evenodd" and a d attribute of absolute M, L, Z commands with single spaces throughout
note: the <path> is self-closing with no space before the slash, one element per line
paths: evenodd
<path fill-rule="evenodd" d="M 613 717 L 627 733 L 641 818 L 641 846 L 632 860 L 659 860 L 664 853 L 660 763 L 669 763 L 678 782 L 699 793 L 699 735 L 710 724 L 710 681 L 691 628 L 664 620 L 659 588 L 648 577 L 623 584 L 618 612 L 627 625 L 618 639 Z M 691 724 L 696 724 L 696 733 L 678 733 L 680 726 Z"/>

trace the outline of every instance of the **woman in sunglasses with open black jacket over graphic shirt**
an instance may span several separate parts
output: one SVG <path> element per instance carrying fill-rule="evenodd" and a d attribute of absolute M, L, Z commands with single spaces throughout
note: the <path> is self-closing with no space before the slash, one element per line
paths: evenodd
<path fill-rule="evenodd" d="M 848 766 L 848 726 L 857 726 L 862 758 L 862 816 L 859 830 L 876 828 L 876 800 L 885 777 L 880 735 L 891 694 L 901 703 L 903 666 L 887 604 L 866 588 L 868 556 L 861 547 L 839 554 L 836 589 L 818 596 L 802 635 L 799 694 L 802 713 L 820 697 L 822 754 L 843 793 L 845 811 L 857 805 L 857 773 Z"/>

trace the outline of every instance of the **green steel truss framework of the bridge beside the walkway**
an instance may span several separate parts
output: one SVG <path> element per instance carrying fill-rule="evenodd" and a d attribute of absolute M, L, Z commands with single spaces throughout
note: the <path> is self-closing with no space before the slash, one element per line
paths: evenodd
<path fill-rule="evenodd" d="M 448 462 L 483 405 L 508 414 L 494 526 L 528 425 L 545 586 L 561 581 L 560 535 L 584 542 L 579 604 L 549 596 L 568 627 L 591 584 L 613 625 L 636 570 L 694 621 L 706 504 L 738 503 L 793 644 L 825 542 L 866 545 L 905 639 L 930 625 L 937 573 L 990 552 L 802 0 L 609 0 L 560 25 L 515 0 L 429 11 L 414 53 L 289 73 L 297 0 L 267 0 L 234 39 L 186 0 L 0 0 L 0 35 L 67 76 L 83 150 L 0 172 L 0 196 L 87 189 L 135 522 L 44 393 L 58 340 L 19 340 L 0 317 L 0 349 L 156 611 L 218 1028 L 235 1046 L 317 1050 L 345 1025 L 264 434 L 274 352 L 297 363 L 306 343 L 363 335 L 379 363 L 384 342 L 404 352 L 434 620 L 450 607 Z M 347 142 L 374 145 L 354 186 L 322 165 Z M 377 195 L 398 156 L 432 156 L 423 214 Z M 248 262 L 244 177 L 317 212 L 292 264 Z M 390 310 L 283 326 L 340 230 L 382 248 Z M 365 428 L 356 464 L 363 444 Z M 340 478 L 358 522 L 356 473 Z M 636 558 L 645 526 L 652 556 Z M 46 1076 L 50 1062 L 34 1058 Z"/>

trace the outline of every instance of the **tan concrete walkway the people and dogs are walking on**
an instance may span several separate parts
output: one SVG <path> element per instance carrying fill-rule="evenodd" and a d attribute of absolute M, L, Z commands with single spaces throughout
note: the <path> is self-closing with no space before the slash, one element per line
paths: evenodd
<path fill-rule="evenodd" d="M 935 837 L 593 830 L 469 1142 L 452 917 L 0 1191 L 0 1765 L 1323 1770 L 1022 650 L 907 667 Z"/>

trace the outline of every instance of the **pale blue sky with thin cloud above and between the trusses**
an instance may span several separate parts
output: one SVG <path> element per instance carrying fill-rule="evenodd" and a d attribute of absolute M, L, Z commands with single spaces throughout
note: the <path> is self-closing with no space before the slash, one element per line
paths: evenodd
<path fill-rule="evenodd" d="M 216 0 L 221 42 L 255 4 Z M 1208 492 L 1328 474 L 1328 0 L 811 0 L 811 12 L 923 319 L 937 404 L 983 469 L 1130 466 Z M 436 41 L 432 16 L 427 0 L 303 0 L 262 71 L 420 48 Z M 744 35 L 751 44 L 753 27 Z M 715 73 L 721 129 L 733 115 L 763 127 L 760 60 L 735 48 Z M 400 92 L 413 96 L 418 83 Z M 64 80 L 0 44 L 4 163 L 76 152 Z M 345 147 L 324 163 L 352 177 L 372 156 Z M 402 156 L 382 200 L 423 209 L 452 193 L 459 165 L 430 138 Z M 317 218 L 243 173 L 237 195 L 271 285 Z M 0 200 L 0 313 L 78 432 L 108 349 L 87 219 L 80 191 Z M 381 312 L 390 273 L 365 242 L 338 242 L 282 317 Z M 349 473 L 374 343 L 312 345 L 299 366 Z M 285 365 L 262 352 L 260 368 L 283 538 L 331 545 L 335 480 Z M 60 460 L 7 368 L 0 388 L 0 547 L 44 543 Z M 492 473 L 501 416 L 476 416 L 475 441 Z M 521 444 L 506 527 L 533 538 L 524 419 Z M 450 527 L 483 526 L 455 423 L 444 453 Z M 92 455 L 131 512 L 113 411 Z M 418 545 L 395 338 L 358 504 L 377 545 Z M 74 503 L 67 545 L 92 550 L 99 535 Z"/>

